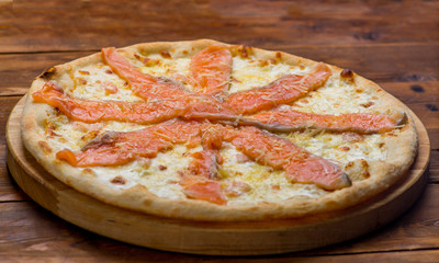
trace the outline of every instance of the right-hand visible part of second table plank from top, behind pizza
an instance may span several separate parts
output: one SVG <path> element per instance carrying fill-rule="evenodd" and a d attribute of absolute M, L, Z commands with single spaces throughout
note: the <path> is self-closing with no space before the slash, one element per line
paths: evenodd
<path fill-rule="evenodd" d="M 375 82 L 439 79 L 438 43 L 322 47 L 281 46 L 275 48 L 340 68 L 349 68 Z"/>

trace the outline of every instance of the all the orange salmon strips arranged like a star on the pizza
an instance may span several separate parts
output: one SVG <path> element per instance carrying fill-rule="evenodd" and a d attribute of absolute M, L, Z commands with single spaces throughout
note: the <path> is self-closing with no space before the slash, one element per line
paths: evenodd
<path fill-rule="evenodd" d="M 164 54 L 172 57 L 170 53 Z M 225 46 L 201 50 L 192 57 L 189 76 L 176 75 L 179 77 L 175 80 L 143 73 L 115 48 L 103 48 L 101 55 L 111 68 L 109 73 L 124 79 L 143 101 L 71 98 L 52 81 L 33 93 L 33 100 L 83 123 L 117 121 L 154 125 L 135 132 L 93 135 L 95 138 L 80 151 L 64 149 L 56 157 L 74 167 L 122 165 L 155 158 L 178 144 L 185 144 L 188 148 L 201 145 L 202 150 L 189 157 L 191 162 L 181 173 L 179 184 L 188 198 L 226 205 L 227 198 L 251 190 L 239 181 L 227 181 L 223 186 L 219 183 L 223 141 L 234 145 L 245 160 L 284 171 L 292 183 L 313 183 L 335 191 L 351 185 L 338 165 L 268 130 L 283 133 L 309 127 L 371 134 L 385 133 L 398 125 L 398 121 L 385 115 L 335 116 L 279 110 L 279 105 L 291 104 L 325 84 L 331 70 L 324 64 L 304 76 L 288 75 L 264 87 L 227 95 L 233 57 Z M 103 88 L 108 94 L 117 92 L 110 82 L 104 82 Z"/>

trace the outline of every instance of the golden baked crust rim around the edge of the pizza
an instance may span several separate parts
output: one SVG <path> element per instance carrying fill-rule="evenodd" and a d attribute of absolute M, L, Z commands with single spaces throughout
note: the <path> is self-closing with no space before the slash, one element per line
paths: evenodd
<path fill-rule="evenodd" d="M 138 44 L 117 49 L 131 62 L 138 62 L 135 54 L 148 56 L 168 52 L 172 59 L 191 57 L 212 44 L 227 45 L 209 39 L 179 43 L 149 43 Z M 314 67 L 317 62 L 297 56 L 280 52 L 268 52 L 258 48 L 233 46 L 234 56 L 252 56 L 259 60 L 275 60 L 279 64 L 294 65 L 300 68 Z M 35 103 L 32 93 L 40 90 L 48 80 L 56 80 L 60 87 L 75 85 L 70 78 L 75 69 L 89 65 L 102 64 L 100 54 L 94 54 L 71 62 L 59 65 L 37 77 L 29 91 L 22 116 L 22 137 L 26 149 L 35 157 L 40 164 L 50 174 L 67 185 L 90 195 L 101 202 L 144 211 L 160 217 L 171 217 L 190 220 L 211 221 L 237 221 L 237 220 L 263 220 L 273 218 L 293 218 L 309 216 L 317 213 L 333 211 L 359 204 L 378 193 L 389 188 L 401 179 L 412 165 L 417 152 L 417 135 L 415 124 L 410 117 L 410 111 L 391 94 L 383 91 L 379 85 L 356 73 L 345 73 L 340 78 L 342 69 L 329 66 L 333 77 L 338 81 L 353 83 L 364 92 L 371 92 L 378 96 L 374 111 L 386 114 L 404 113 L 406 121 L 398 128 L 396 136 L 386 135 L 382 151 L 386 153 L 385 161 L 367 161 L 361 164 L 360 160 L 351 163 L 347 171 L 352 174 L 364 172 L 364 165 L 369 178 L 354 181 L 352 186 L 334 192 L 327 192 L 323 196 L 305 198 L 289 198 L 278 203 L 258 203 L 249 205 L 215 205 L 204 201 L 190 198 L 164 198 L 150 192 L 146 186 L 134 183 L 121 186 L 114 183 L 103 182 L 92 169 L 75 168 L 65 161 L 56 159 L 59 146 L 47 141 L 47 118 L 56 115 L 56 111 L 44 103 Z M 389 133 L 392 134 L 392 133 Z M 77 147 L 78 149 L 80 147 Z M 396 150 L 397 149 L 397 150 Z M 121 174 L 124 178 L 124 174 Z M 130 179 L 127 180 L 130 181 Z"/>

